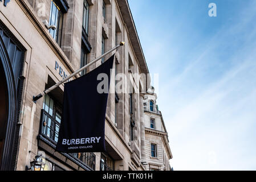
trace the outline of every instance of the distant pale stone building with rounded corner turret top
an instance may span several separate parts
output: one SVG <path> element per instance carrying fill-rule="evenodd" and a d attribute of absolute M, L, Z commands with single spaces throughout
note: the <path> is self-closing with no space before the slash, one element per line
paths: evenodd
<path fill-rule="evenodd" d="M 172 168 L 169 160 L 172 159 L 172 152 L 164 119 L 156 100 L 155 88 L 150 86 L 144 94 L 145 155 L 142 158 L 148 164 L 147 170 L 170 171 Z"/>

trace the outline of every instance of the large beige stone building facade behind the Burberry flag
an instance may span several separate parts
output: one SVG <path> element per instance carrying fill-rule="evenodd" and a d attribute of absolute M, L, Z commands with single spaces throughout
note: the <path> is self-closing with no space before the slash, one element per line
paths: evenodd
<path fill-rule="evenodd" d="M 0 2 L 1 170 L 26 170 L 38 151 L 54 170 L 146 170 L 144 90 L 151 82 L 127 0 L 11 0 Z M 64 85 L 33 102 L 102 53 L 115 53 L 113 74 L 122 73 L 121 92 L 111 80 L 105 117 L 104 153 L 55 151 Z M 109 54 L 73 80 L 96 67 Z M 88 85 L 90 86 L 90 85 Z M 133 92 L 129 92 L 132 90 Z M 3 104 L 2 104 L 3 103 Z"/>

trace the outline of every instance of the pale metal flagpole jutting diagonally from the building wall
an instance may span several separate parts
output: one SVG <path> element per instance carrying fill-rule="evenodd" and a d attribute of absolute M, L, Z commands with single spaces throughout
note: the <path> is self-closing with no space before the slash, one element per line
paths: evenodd
<path fill-rule="evenodd" d="M 84 67 L 78 69 L 78 71 L 72 73 L 72 75 L 64 78 L 62 81 L 56 83 L 54 86 L 51 86 L 51 88 L 48 88 L 46 90 L 44 90 L 42 93 L 38 94 L 37 96 L 33 96 L 33 102 L 36 102 L 37 100 L 39 100 L 40 98 L 42 98 L 44 95 L 46 95 L 47 93 L 51 92 L 52 90 L 58 88 L 59 85 L 63 84 L 64 82 L 66 82 L 67 80 L 69 80 L 70 78 L 72 78 L 75 75 L 78 75 L 78 73 L 82 72 L 84 69 L 90 67 L 90 65 L 96 63 L 96 61 L 99 61 L 101 58 L 103 58 L 104 56 L 107 56 L 109 53 L 111 53 L 112 51 L 115 51 L 115 49 L 119 48 L 120 46 L 124 46 L 124 42 L 121 42 L 119 45 L 117 45 L 116 47 L 113 47 L 112 49 L 110 49 L 109 51 L 105 52 L 103 55 L 97 57 L 95 60 L 91 61 L 91 63 L 85 65 Z"/>

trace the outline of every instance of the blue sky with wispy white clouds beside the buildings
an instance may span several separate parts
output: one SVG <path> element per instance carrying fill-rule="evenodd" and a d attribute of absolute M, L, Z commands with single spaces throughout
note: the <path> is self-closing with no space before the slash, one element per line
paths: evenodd
<path fill-rule="evenodd" d="M 170 165 L 256 170 L 256 1 L 128 2 L 149 72 L 159 74 Z"/>

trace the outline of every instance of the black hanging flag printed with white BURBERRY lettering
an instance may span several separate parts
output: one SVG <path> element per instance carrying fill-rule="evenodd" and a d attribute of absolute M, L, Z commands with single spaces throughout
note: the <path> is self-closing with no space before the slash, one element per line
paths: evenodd
<path fill-rule="evenodd" d="M 56 151 L 105 151 L 105 113 L 113 59 L 114 56 L 111 56 L 93 71 L 64 84 L 63 113 Z M 106 80 L 107 84 L 103 84 Z"/>

